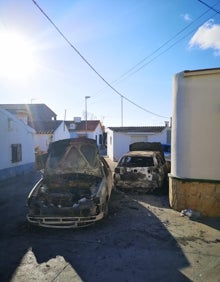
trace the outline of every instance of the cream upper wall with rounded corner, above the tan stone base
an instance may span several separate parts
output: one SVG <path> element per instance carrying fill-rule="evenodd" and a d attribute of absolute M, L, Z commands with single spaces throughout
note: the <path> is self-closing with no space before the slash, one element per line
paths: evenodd
<path fill-rule="evenodd" d="M 171 174 L 220 180 L 220 69 L 173 79 Z"/>

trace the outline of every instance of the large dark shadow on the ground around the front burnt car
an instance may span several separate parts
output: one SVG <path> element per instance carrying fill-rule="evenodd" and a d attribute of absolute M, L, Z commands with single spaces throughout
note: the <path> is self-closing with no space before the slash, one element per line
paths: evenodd
<path fill-rule="evenodd" d="M 25 201 L 36 176 L 1 185 L 1 281 L 10 281 L 31 248 L 38 264 L 62 256 L 83 281 L 190 281 L 176 240 L 150 210 L 119 191 L 106 219 L 85 229 L 29 227 Z"/>

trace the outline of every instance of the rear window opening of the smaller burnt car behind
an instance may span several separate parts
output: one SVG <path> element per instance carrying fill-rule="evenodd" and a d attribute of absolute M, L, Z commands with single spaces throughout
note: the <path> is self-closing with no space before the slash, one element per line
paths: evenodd
<path fill-rule="evenodd" d="M 121 159 L 119 165 L 124 167 L 149 167 L 154 166 L 154 160 L 153 157 L 126 156 Z"/>

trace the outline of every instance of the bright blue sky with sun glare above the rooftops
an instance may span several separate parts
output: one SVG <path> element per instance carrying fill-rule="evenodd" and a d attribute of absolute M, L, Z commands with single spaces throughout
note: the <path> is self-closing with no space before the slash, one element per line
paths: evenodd
<path fill-rule="evenodd" d="M 117 92 L 33 1 L 1 0 L 1 104 L 45 103 L 71 120 L 90 96 L 88 119 L 105 126 L 163 125 L 175 73 L 220 67 L 220 14 L 198 0 L 36 2 Z"/>

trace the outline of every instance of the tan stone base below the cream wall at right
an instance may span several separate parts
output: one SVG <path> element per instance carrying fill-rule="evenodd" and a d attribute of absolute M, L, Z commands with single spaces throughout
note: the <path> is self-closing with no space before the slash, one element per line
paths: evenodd
<path fill-rule="evenodd" d="M 181 179 L 169 176 L 170 206 L 193 209 L 202 216 L 220 216 L 220 181 Z"/>

